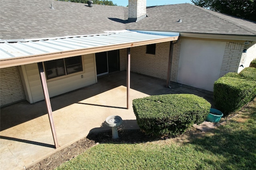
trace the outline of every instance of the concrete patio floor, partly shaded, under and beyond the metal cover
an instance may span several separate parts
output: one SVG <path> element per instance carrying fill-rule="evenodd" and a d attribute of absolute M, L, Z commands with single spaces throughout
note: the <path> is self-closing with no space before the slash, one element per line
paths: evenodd
<path fill-rule="evenodd" d="M 177 83 L 131 73 L 130 109 L 126 109 L 126 72 L 101 78 L 98 83 L 51 98 L 59 149 L 54 140 L 44 101 L 20 102 L 1 108 L 0 169 L 24 170 L 57 150 L 82 139 L 88 133 L 104 131 L 106 117 L 122 117 L 123 129 L 137 129 L 132 100 L 158 94 L 196 94 L 213 105 L 213 93 Z M 214 107 L 214 106 L 212 106 Z"/>

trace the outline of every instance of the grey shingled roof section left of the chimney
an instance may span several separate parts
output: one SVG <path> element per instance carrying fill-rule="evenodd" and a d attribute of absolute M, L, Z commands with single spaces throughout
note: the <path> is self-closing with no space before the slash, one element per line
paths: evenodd
<path fill-rule="evenodd" d="M 54 10 L 51 8 L 51 4 Z M 108 18 L 128 18 L 128 8 L 55 0 L 1 0 L 0 38 L 31 39 L 123 30 Z"/>

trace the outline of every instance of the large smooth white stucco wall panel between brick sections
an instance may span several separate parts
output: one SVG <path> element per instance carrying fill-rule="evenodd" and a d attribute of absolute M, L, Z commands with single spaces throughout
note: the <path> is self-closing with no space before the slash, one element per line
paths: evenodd
<path fill-rule="evenodd" d="M 178 83 L 213 91 L 226 42 L 182 39 Z"/>

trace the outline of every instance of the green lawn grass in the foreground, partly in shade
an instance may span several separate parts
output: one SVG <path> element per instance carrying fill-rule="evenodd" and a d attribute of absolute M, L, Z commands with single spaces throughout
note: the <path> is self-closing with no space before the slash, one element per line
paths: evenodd
<path fill-rule="evenodd" d="M 56 170 L 256 169 L 256 99 L 207 133 L 138 144 L 100 144 Z"/>

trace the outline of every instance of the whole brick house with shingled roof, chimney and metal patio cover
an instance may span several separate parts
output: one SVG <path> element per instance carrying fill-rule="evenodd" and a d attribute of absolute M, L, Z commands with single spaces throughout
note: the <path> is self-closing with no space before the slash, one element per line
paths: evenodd
<path fill-rule="evenodd" d="M 128 70 L 128 51 L 132 72 L 209 91 L 256 58 L 254 21 L 192 4 L 1 0 L 0 17 L 1 107 L 44 100 L 38 63 L 52 97 Z"/>

